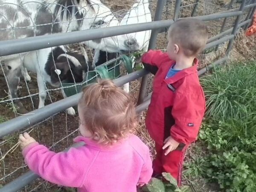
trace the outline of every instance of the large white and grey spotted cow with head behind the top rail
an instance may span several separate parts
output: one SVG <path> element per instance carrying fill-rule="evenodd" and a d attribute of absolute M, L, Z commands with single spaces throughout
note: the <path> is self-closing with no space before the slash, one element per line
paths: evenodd
<path fill-rule="evenodd" d="M 100 0 L 0 0 L 0 41 L 117 25 L 119 22 L 114 14 Z M 106 52 L 139 49 L 137 41 L 127 35 L 84 43 Z M 26 67 L 22 65 L 25 55 L 20 53 L 0 58 L 8 70 L 12 98 L 17 98 L 20 75 L 30 80 Z M 18 99 L 14 102 L 22 106 Z"/>

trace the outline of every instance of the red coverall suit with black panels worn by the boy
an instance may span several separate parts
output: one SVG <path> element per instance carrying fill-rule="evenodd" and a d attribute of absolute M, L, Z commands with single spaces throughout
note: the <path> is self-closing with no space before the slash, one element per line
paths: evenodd
<path fill-rule="evenodd" d="M 168 79 L 166 75 L 175 61 L 170 60 L 167 53 L 150 50 L 143 55 L 142 62 L 146 70 L 155 74 L 145 122 L 157 151 L 153 169 L 156 173 L 170 173 L 180 184 L 186 148 L 195 141 L 205 112 L 198 60 Z M 163 141 L 169 136 L 180 144 L 165 156 Z"/>

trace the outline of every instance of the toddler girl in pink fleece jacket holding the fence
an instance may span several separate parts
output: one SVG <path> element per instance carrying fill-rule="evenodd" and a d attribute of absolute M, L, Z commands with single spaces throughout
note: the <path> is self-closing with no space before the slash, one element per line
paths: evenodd
<path fill-rule="evenodd" d="M 83 90 L 78 105 L 81 136 L 86 145 L 55 153 L 29 134 L 19 141 L 26 164 L 40 177 L 78 192 L 136 192 L 148 183 L 152 163 L 148 147 L 131 134 L 137 125 L 134 104 L 111 80 Z"/>

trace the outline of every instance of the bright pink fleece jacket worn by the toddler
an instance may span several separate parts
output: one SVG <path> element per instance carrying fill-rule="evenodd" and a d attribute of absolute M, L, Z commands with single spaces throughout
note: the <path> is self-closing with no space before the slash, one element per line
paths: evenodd
<path fill-rule="evenodd" d="M 148 147 L 135 135 L 111 147 L 85 137 L 74 142 L 86 145 L 55 153 L 32 143 L 23 149 L 33 172 L 58 185 L 77 187 L 78 192 L 136 192 L 137 183 L 148 183 L 152 163 Z"/>

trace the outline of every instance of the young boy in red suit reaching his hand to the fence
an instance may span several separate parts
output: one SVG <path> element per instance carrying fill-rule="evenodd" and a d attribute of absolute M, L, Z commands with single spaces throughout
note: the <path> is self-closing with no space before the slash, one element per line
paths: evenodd
<path fill-rule="evenodd" d="M 195 57 L 207 37 L 204 22 L 180 19 L 169 28 L 167 52 L 150 50 L 141 59 L 145 69 L 155 74 L 146 117 L 157 151 L 153 176 L 168 172 L 178 184 L 186 148 L 195 141 L 205 112 Z"/>

